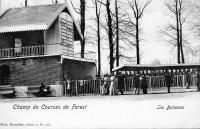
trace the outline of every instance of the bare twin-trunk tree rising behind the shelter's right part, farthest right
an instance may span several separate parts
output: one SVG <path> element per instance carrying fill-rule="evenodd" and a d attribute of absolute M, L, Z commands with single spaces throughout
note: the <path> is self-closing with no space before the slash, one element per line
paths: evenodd
<path fill-rule="evenodd" d="M 173 14 L 175 24 L 169 23 L 167 27 L 161 30 L 161 33 L 168 37 L 168 42 L 177 47 L 177 63 L 185 63 L 183 47 L 187 41 L 183 39 L 183 24 L 190 15 L 186 7 L 186 1 L 170 0 L 165 3 L 168 10 Z"/>

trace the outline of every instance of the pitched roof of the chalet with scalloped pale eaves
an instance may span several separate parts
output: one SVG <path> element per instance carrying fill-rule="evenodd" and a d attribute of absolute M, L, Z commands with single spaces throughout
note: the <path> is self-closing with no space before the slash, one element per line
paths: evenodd
<path fill-rule="evenodd" d="M 0 14 L 0 33 L 47 30 L 64 10 L 71 15 L 75 30 L 82 37 L 67 3 L 8 9 Z"/>

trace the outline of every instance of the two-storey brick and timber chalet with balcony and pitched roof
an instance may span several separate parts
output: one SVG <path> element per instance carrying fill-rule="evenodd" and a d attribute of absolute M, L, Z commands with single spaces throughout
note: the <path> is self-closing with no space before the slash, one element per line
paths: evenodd
<path fill-rule="evenodd" d="M 66 3 L 13 8 L 0 13 L 0 85 L 54 84 L 91 79 L 95 53 L 74 53 L 82 35 Z"/>

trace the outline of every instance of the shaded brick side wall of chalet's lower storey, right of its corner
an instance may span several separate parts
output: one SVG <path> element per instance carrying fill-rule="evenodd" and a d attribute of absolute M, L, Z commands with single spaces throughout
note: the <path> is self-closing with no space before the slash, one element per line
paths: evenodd
<path fill-rule="evenodd" d="M 77 80 L 95 79 L 96 64 L 76 60 L 63 60 L 63 74 L 65 77 Z"/>

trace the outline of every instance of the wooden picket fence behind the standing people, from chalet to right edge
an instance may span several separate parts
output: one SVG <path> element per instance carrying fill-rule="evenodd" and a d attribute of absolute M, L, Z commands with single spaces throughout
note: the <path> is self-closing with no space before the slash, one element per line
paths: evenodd
<path fill-rule="evenodd" d="M 192 75 L 190 77 L 190 85 L 196 86 L 196 76 Z M 103 85 L 103 80 L 76 80 L 72 82 L 72 95 L 99 95 L 101 94 L 101 86 Z M 167 92 L 167 86 L 164 76 L 148 76 L 147 77 L 148 91 L 150 93 L 154 92 Z M 187 86 L 187 80 L 185 75 L 176 75 L 173 77 L 171 88 L 174 91 L 182 91 Z M 133 92 L 136 88 L 135 78 L 129 77 L 124 79 L 124 91 Z M 65 89 L 65 88 L 64 88 Z M 177 89 L 177 90 L 176 90 Z M 69 96 L 70 93 L 65 89 L 65 96 Z M 134 93 L 134 92 L 133 92 Z"/>

